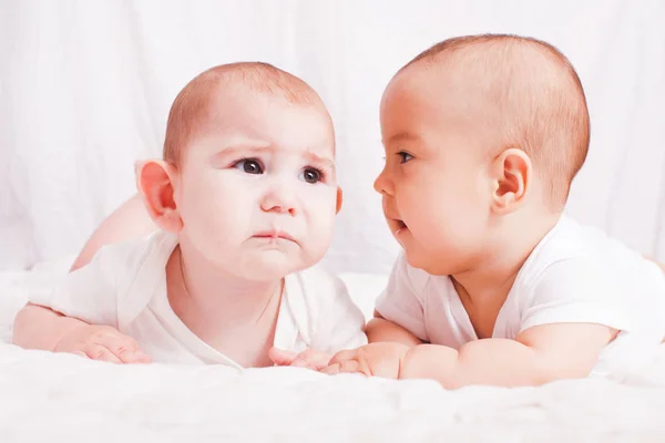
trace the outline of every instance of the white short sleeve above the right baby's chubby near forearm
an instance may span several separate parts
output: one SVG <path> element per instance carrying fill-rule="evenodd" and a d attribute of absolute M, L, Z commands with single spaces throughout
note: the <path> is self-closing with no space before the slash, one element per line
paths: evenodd
<path fill-rule="evenodd" d="M 556 261 L 534 281 L 522 309 L 520 332 L 551 323 L 595 323 L 628 331 L 620 287 L 587 258 Z"/>

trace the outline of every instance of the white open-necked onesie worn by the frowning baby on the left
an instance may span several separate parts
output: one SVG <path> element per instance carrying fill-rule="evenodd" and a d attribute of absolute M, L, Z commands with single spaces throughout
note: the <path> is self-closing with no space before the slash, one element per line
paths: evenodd
<path fill-rule="evenodd" d="M 164 231 L 105 246 L 62 286 L 31 302 L 132 337 L 153 362 L 241 368 L 175 315 L 166 296 L 166 262 L 177 237 Z M 345 285 L 318 266 L 286 276 L 275 347 L 336 352 L 367 343 L 365 319 Z"/>

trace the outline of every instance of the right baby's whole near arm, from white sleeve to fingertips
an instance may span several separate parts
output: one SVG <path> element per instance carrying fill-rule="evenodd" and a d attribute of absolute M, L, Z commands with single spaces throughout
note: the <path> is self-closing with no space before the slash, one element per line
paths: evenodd
<path fill-rule="evenodd" d="M 459 350 L 375 342 L 339 352 L 324 371 L 429 378 L 447 388 L 533 385 L 585 377 L 617 331 L 630 331 L 612 281 L 593 262 L 560 261 L 528 291 L 533 298 L 523 300 L 522 331 L 514 340 L 477 340 Z"/>

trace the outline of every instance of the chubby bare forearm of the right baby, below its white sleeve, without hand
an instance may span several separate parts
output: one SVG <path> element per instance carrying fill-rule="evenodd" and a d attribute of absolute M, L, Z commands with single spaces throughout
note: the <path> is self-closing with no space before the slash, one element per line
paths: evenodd
<path fill-rule="evenodd" d="M 602 324 L 539 326 L 515 340 L 472 341 L 454 349 L 422 344 L 405 352 L 399 379 L 433 379 L 446 388 L 468 384 L 539 385 L 589 375 L 617 331 Z"/>

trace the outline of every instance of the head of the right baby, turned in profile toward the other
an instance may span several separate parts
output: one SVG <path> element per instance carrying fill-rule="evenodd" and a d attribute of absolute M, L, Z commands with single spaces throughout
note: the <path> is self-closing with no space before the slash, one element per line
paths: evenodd
<path fill-rule="evenodd" d="M 388 224 L 409 262 L 439 275 L 481 261 L 507 226 L 560 214 L 590 137 L 567 59 L 513 35 L 456 38 L 418 55 L 383 94 L 381 132 L 375 187 Z"/>

